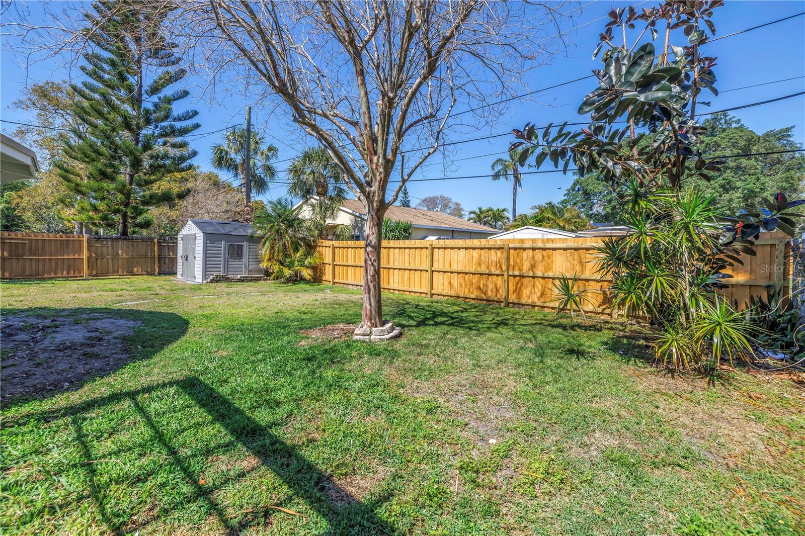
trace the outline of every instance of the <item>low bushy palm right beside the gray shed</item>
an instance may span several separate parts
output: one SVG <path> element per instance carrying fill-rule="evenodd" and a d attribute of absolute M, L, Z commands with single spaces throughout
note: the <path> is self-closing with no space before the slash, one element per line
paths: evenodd
<path fill-rule="evenodd" d="M 301 215 L 301 207 L 294 208 L 291 200 L 271 201 L 254 214 L 254 234 L 262 236 L 260 253 L 264 266 L 284 262 L 299 250 L 312 251 L 316 235 L 308 220 Z"/>

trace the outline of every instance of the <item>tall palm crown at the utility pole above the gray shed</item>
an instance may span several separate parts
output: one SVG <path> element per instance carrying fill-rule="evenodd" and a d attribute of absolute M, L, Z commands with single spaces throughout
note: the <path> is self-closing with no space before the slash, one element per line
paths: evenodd
<path fill-rule="evenodd" d="M 277 176 L 276 168 L 270 163 L 277 158 L 277 148 L 271 144 L 263 146 L 264 141 L 262 134 L 252 130 L 250 179 L 251 192 L 256 194 L 265 193 L 269 181 Z M 226 133 L 223 144 L 213 146 L 213 167 L 240 179 L 243 200 L 246 201 L 246 129 L 233 127 Z"/>

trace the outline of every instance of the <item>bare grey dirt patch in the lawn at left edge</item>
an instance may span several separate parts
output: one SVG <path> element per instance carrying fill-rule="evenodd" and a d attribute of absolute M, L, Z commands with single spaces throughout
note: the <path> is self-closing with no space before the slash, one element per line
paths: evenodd
<path fill-rule="evenodd" d="M 77 389 L 130 361 L 128 336 L 142 324 L 103 315 L 3 315 L 2 400 Z"/>

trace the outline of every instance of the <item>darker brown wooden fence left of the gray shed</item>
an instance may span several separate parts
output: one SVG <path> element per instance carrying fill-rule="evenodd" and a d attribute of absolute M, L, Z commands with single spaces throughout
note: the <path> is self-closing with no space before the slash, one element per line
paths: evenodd
<path fill-rule="evenodd" d="M 0 232 L 0 278 L 175 274 L 176 241 Z"/>

